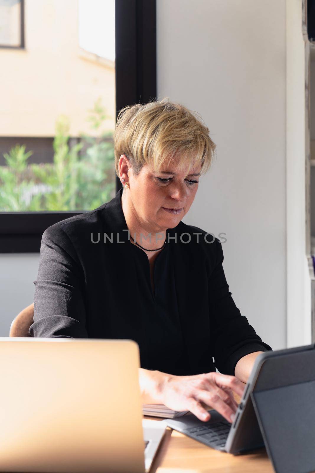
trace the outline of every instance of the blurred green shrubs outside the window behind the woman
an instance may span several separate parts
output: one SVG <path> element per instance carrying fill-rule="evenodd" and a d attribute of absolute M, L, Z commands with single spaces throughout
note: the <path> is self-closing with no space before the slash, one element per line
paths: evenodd
<path fill-rule="evenodd" d="M 0 210 L 93 210 L 115 192 L 112 131 L 102 131 L 107 115 L 101 98 L 87 120 L 97 136 L 80 135 L 69 145 L 69 119 L 56 120 L 53 162 L 27 164 L 32 151 L 16 145 L 0 166 Z"/>

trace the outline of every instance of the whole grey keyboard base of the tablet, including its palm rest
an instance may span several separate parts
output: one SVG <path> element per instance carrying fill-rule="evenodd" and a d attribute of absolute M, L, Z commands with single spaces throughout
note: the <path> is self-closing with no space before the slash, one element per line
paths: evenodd
<path fill-rule="evenodd" d="M 217 415 L 212 415 L 212 419 L 207 422 L 198 420 L 192 414 L 188 414 L 188 416 L 180 419 L 167 419 L 166 423 L 171 429 L 178 430 L 182 434 L 194 438 L 208 447 L 223 450 L 231 424 L 217 412 L 215 414 Z M 219 419 L 213 418 L 217 416 L 219 416 Z"/>

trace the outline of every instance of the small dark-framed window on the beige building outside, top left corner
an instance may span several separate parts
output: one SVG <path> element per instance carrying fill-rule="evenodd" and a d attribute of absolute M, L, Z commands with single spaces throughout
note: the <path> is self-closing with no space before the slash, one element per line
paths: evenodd
<path fill-rule="evenodd" d="M 0 47 L 24 48 L 24 0 L 0 0 Z"/>

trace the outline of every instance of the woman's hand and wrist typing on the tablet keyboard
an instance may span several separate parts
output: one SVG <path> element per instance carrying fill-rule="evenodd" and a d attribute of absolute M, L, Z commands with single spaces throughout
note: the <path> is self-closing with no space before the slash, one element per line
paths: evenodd
<path fill-rule="evenodd" d="M 174 376 L 159 371 L 152 373 L 151 382 L 147 384 L 154 386 L 155 400 L 151 402 L 165 404 L 174 411 L 190 411 L 204 421 L 210 419 L 207 409 L 212 408 L 229 422 L 233 421 L 238 404 L 232 391 L 242 396 L 245 387 L 235 376 L 216 372 L 194 376 Z"/>

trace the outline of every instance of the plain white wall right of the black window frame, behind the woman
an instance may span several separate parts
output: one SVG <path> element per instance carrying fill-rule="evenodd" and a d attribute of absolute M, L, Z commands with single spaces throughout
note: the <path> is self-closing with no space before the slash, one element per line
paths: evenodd
<path fill-rule="evenodd" d="M 203 117 L 217 145 L 184 221 L 218 236 L 232 297 L 286 346 L 285 0 L 157 0 L 158 96 Z"/>

